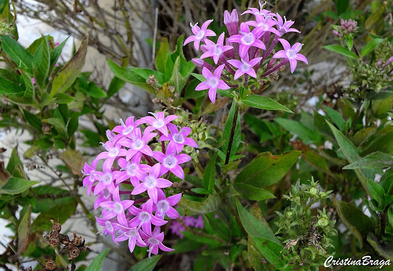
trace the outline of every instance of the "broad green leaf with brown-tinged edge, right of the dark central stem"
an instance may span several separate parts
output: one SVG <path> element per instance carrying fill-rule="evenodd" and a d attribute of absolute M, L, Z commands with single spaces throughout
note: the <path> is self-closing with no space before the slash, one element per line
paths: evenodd
<path fill-rule="evenodd" d="M 288 151 L 273 155 L 269 151 L 262 152 L 236 176 L 234 185 L 245 183 L 259 188 L 271 185 L 284 177 L 301 153 Z"/>

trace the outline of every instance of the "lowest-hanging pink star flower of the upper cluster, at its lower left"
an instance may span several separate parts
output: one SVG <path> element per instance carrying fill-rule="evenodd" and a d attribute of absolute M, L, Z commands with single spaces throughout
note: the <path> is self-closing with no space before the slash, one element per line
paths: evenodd
<path fill-rule="evenodd" d="M 226 85 L 226 83 L 220 79 L 221 73 L 223 72 L 225 64 L 222 64 L 217 67 L 217 69 L 214 71 L 214 75 L 206 68 L 202 68 L 202 75 L 206 79 L 206 81 L 203 81 L 197 85 L 195 90 L 207 90 L 209 89 L 209 99 L 212 101 L 212 103 L 215 103 L 216 101 L 216 93 L 217 89 L 219 90 L 229 90 L 229 86 Z"/>

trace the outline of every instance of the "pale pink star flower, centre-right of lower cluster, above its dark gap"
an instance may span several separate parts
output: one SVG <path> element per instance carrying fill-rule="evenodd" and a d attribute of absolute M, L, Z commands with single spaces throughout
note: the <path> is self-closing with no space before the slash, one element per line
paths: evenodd
<path fill-rule="evenodd" d="M 135 175 L 141 181 L 134 190 L 132 190 L 131 195 L 138 195 L 147 190 L 147 194 L 153 203 L 157 203 L 157 188 L 166 188 L 172 185 L 171 181 L 167 179 L 158 178 L 160 174 L 160 163 L 155 164 L 149 169 L 149 175 L 141 170 L 135 170 Z"/>

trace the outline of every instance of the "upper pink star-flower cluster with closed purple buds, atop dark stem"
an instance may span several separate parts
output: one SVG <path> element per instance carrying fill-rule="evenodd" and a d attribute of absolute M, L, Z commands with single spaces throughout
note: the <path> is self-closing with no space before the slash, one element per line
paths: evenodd
<path fill-rule="evenodd" d="M 294 22 L 287 21 L 285 16 L 282 18 L 279 13 L 275 14 L 263 9 L 265 4 L 266 2 L 264 4 L 259 2 L 260 9 L 251 7 L 241 14 L 253 14 L 255 20 L 241 23 L 240 30 L 237 10 L 233 9 L 231 13 L 225 10 L 224 24 L 229 37 L 225 39 L 225 32 L 223 32 L 217 43 L 207 38 L 216 36 L 214 31 L 207 29 L 213 20 L 204 22 L 200 28 L 198 23 L 190 24 L 194 35 L 188 37 L 184 45 L 194 42 L 196 50 L 199 50 L 200 46 L 203 54 L 199 59 L 192 61 L 196 66 L 203 67 L 202 75 L 206 79 L 195 90 L 208 90 L 212 103 L 216 100 L 218 89 L 238 88 L 241 77 L 244 77 L 243 85 L 247 86 L 249 77 L 265 77 L 288 61 L 292 73 L 296 68 L 297 60 L 308 63 L 306 57 L 299 54 L 302 44 L 297 42 L 291 46 L 287 40 L 281 38 L 287 32 L 300 32 L 291 28 Z M 283 50 L 271 56 L 278 42 L 281 43 Z M 204 60 L 206 58 L 211 58 L 217 67 L 206 62 Z M 281 61 L 276 63 L 276 59 Z"/>

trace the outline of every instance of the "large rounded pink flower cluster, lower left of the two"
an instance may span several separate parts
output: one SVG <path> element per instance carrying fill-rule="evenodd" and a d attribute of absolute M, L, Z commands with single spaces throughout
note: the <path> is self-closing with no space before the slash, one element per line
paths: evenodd
<path fill-rule="evenodd" d="M 191 160 L 181 153 L 184 145 L 198 148 L 187 137 L 191 128 L 171 123 L 177 116 L 165 117 L 165 112 L 150 114 L 139 120 L 130 117 L 125 123 L 120 119 L 121 125 L 107 131 L 108 141 L 102 143 L 106 151 L 98 154 L 91 166 L 86 163 L 82 171 L 87 194 L 97 197 L 94 209 L 103 208 L 101 217 L 96 217 L 104 227 L 103 233 L 111 235 L 116 244 L 128 240 L 131 252 L 135 245 L 149 246 L 149 257 L 157 254 L 159 248 L 173 250 L 162 243 L 164 233 L 160 226 L 168 222 L 165 216 L 179 217 L 173 206 L 181 194 L 166 197 L 163 188 L 172 184 L 168 180 L 170 172 L 184 179 L 180 164 Z M 161 142 L 162 151 L 152 151 L 153 142 Z M 97 168 L 100 160 L 104 160 L 101 170 Z M 133 188 L 128 189 L 129 185 Z M 133 196 L 145 192 L 147 196 L 133 200 Z"/>

